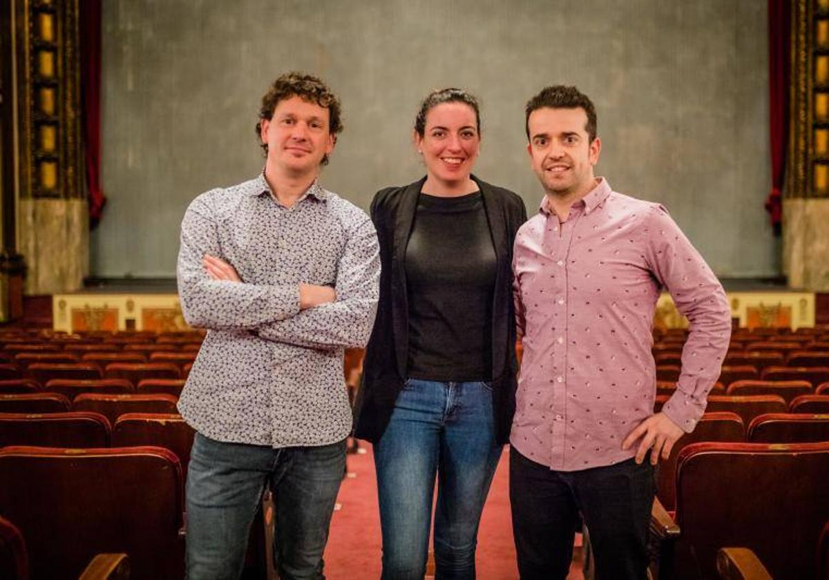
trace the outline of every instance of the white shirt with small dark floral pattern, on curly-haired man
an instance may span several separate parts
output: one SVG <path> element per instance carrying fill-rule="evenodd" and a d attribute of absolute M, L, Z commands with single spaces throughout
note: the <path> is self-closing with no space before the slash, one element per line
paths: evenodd
<path fill-rule="evenodd" d="M 242 283 L 211 279 L 205 254 Z M 178 409 L 225 442 L 318 446 L 351 431 L 342 369 L 365 346 L 379 297 L 380 255 L 366 213 L 315 181 L 291 207 L 264 176 L 214 189 L 182 221 L 178 292 L 191 326 L 208 329 Z M 337 301 L 299 310 L 299 284 L 335 288 Z"/>

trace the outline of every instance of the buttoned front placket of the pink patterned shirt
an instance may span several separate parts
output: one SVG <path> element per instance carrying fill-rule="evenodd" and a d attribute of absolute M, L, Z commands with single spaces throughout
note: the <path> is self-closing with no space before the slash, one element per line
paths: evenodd
<path fill-rule="evenodd" d="M 555 277 L 559 280 L 556 284 L 557 293 L 554 297 L 553 307 L 555 308 L 555 325 L 552 333 L 552 356 L 553 356 L 553 396 L 550 404 L 553 425 L 550 429 L 550 457 L 553 466 L 565 464 L 565 448 L 567 442 L 565 434 L 567 429 L 567 344 L 568 322 L 570 320 L 570 301 L 567 299 L 567 288 L 570 284 L 570 271 L 568 268 L 568 255 L 570 254 L 570 241 L 573 239 L 573 230 L 577 215 L 570 215 L 563 224 L 559 223 L 558 216 L 550 215 L 552 226 L 548 228 L 548 251 L 553 260 Z"/>

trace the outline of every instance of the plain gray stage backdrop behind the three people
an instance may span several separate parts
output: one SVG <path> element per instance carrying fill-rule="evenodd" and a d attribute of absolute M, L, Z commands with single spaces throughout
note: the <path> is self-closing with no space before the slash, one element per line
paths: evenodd
<path fill-rule="evenodd" d="M 597 172 L 667 205 L 725 277 L 777 274 L 761 0 L 107 0 L 103 184 L 92 273 L 175 273 L 201 191 L 254 176 L 259 99 L 285 70 L 322 75 L 346 130 L 322 183 L 367 208 L 423 170 L 411 126 L 430 89 L 482 99 L 476 173 L 541 199 L 523 107 L 574 84 L 599 110 Z"/>

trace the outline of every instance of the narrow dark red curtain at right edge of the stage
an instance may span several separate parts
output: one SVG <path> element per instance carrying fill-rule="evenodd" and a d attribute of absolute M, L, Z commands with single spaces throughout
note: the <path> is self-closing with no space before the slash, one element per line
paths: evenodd
<path fill-rule="evenodd" d="M 772 152 L 772 191 L 766 210 L 775 235 L 783 221 L 783 177 L 788 149 L 788 80 L 791 51 L 792 10 L 790 0 L 768 0 L 768 106 Z"/>

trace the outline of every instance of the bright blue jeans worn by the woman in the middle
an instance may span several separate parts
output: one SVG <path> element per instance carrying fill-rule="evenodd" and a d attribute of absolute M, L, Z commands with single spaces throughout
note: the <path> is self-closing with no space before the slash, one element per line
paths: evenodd
<path fill-rule="evenodd" d="M 424 577 L 436 475 L 435 578 L 475 578 L 478 523 L 501 451 L 490 384 L 406 382 L 374 446 L 382 578 Z"/>

